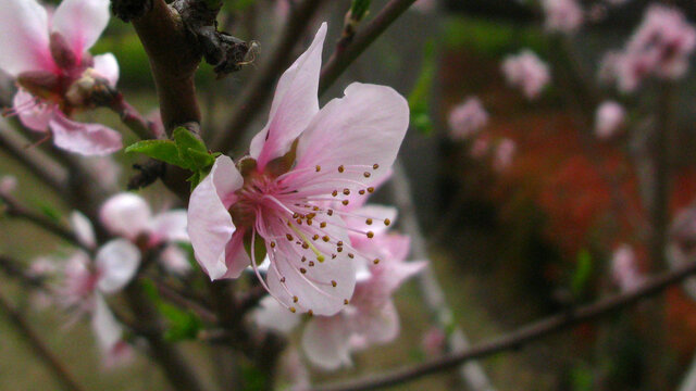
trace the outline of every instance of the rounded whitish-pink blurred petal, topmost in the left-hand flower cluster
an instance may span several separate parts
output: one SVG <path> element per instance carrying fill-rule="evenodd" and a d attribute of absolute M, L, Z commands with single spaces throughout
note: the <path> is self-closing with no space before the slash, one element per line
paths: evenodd
<path fill-rule="evenodd" d="M 140 195 L 122 192 L 108 199 L 99 210 L 99 219 L 111 234 L 135 240 L 146 234 L 152 218 L 150 205 Z"/>

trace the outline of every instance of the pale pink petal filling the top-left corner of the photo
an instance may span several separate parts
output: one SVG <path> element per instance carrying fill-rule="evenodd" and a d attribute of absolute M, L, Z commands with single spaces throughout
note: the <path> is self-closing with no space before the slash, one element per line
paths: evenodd
<path fill-rule="evenodd" d="M 55 71 L 49 50 L 48 16 L 36 0 L 2 1 L 0 37 L 0 70 L 12 76 Z"/>

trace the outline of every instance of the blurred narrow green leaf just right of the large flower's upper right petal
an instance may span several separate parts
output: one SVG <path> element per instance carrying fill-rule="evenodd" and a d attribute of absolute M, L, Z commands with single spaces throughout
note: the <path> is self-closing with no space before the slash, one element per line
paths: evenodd
<path fill-rule="evenodd" d="M 433 133 L 433 122 L 430 116 L 430 94 L 435 79 L 435 43 L 425 45 L 421 73 L 413 90 L 409 94 L 409 109 L 411 110 L 411 125 L 423 135 Z"/>

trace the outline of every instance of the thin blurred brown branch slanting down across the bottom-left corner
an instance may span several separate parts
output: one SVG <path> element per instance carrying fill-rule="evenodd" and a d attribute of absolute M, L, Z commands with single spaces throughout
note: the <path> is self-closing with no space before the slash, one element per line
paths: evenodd
<path fill-rule="evenodd" d="M 83 391 L 85 390 L 67 371 L 67 368 L 61 363 L 46 343 L 41 340 L 39 335 L 29 326 L 29 323 L 24 318 L 21 312 L 18 312 L 12 303 L 0 291 L 0 310 L 2 310 L 10 319 L 10 323 L 14 328 L 24 337 L 26 342 L 32 346 L 34 353 L 39 357 L 46 367 L 55 377 L 55 380 L 61 384 L 61 388 L 67 391 Z"/>

